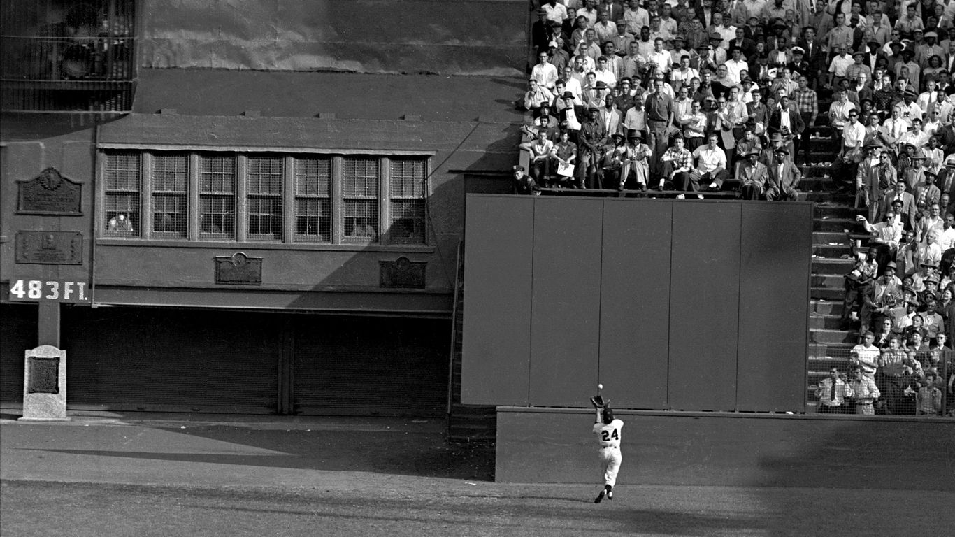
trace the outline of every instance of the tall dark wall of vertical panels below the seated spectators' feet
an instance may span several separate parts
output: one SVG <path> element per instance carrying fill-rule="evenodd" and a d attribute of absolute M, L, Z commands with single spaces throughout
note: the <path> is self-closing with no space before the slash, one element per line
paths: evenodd
<path fill-rule="evenodd" d="M 468 197 L 461 400 L 805 407 L 811 204 Z"/>

